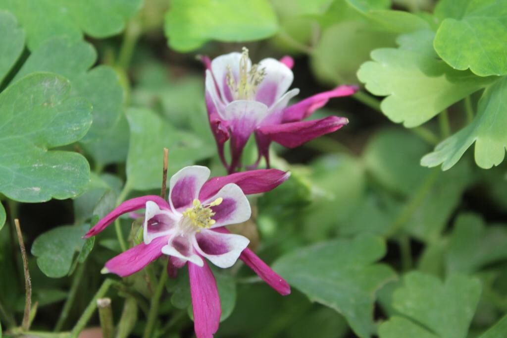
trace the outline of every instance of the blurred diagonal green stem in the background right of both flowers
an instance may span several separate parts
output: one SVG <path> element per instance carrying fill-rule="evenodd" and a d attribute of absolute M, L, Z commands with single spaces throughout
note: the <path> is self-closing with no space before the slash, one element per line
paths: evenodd
<path fill-rule="evenodd" d="M 414 212 L 424 201 L 424 198 L 426 198 L 426 195 L 429 193 L 433 185 L 437 182 L 439 175 L 440 170 L 438 168 L 434 168 L 430 171 L 426 179 L 417 188 L 416 192 L 412 195 L 412 198 L 394 220 L 386 235 L 387 238 L 397 234 L 405 226 L 405 224 L 410 221 Z"/>

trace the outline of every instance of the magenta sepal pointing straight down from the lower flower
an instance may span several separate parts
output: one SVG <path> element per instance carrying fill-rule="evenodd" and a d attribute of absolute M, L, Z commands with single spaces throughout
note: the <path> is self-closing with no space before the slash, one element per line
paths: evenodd
<path fill-rule="evenodd" d="M 202 267 L 191 262 L 188 266 L 195 334 L 197 338 L 212 338 L 222 314 L 216 281 L 206 262 Z"/>

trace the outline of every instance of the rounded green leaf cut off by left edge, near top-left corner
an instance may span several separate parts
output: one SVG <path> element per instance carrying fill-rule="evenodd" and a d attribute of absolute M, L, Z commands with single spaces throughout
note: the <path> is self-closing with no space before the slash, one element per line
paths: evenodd
<path fill-rule="evenodd" d="M 16 60 L 21 55 L 25 45 L 25 34 L 18 27 L 14 15 L 0 11 L 0 82 L 9 73 Z"/>

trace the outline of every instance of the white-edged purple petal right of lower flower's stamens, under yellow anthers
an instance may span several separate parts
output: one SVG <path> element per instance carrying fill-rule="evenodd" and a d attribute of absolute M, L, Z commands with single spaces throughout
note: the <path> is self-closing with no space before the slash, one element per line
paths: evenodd
<path fill-rule="evenodd" d="M 223 198 L 222 203 L 211 207 L 211 210 L 215 213 L 212 219 L 216 221 L 211 228 L 242 223 L 250 218 L 250 203 L 239 186 L 234 183 L 226 184 L 203 204 L 208 204 L 219 197 Z"/>

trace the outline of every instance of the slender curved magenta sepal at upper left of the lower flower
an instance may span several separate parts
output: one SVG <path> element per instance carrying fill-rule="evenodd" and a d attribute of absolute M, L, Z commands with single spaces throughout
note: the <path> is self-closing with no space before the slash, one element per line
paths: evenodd
<path fill-rule="evenodd" d="M 91 236 L 96 235 L 103 229 L 105 229 L 106 226 L 113 223 L 115 219 L 120 217 L 120 215 L 129 213 L 134 210 L 138 209 L 144 209 L 144 206 L 146 205 L 147 201 L 154 201 L 160 209 L 170 210 L 171 207 L 169 206 L 169 203 L 163 199 L 160 196 L 157 195 L 147 195 L 142 197 L 136 197 L 132 199 L 127 199 L 122 204 L 120 204 L 118 207 L 116 207 L 112 212 L 107 214 L 104 218 L 102 218 L 93 228 L 91 228 L 86 234 L 85 238 L 89 238 Z"/>

